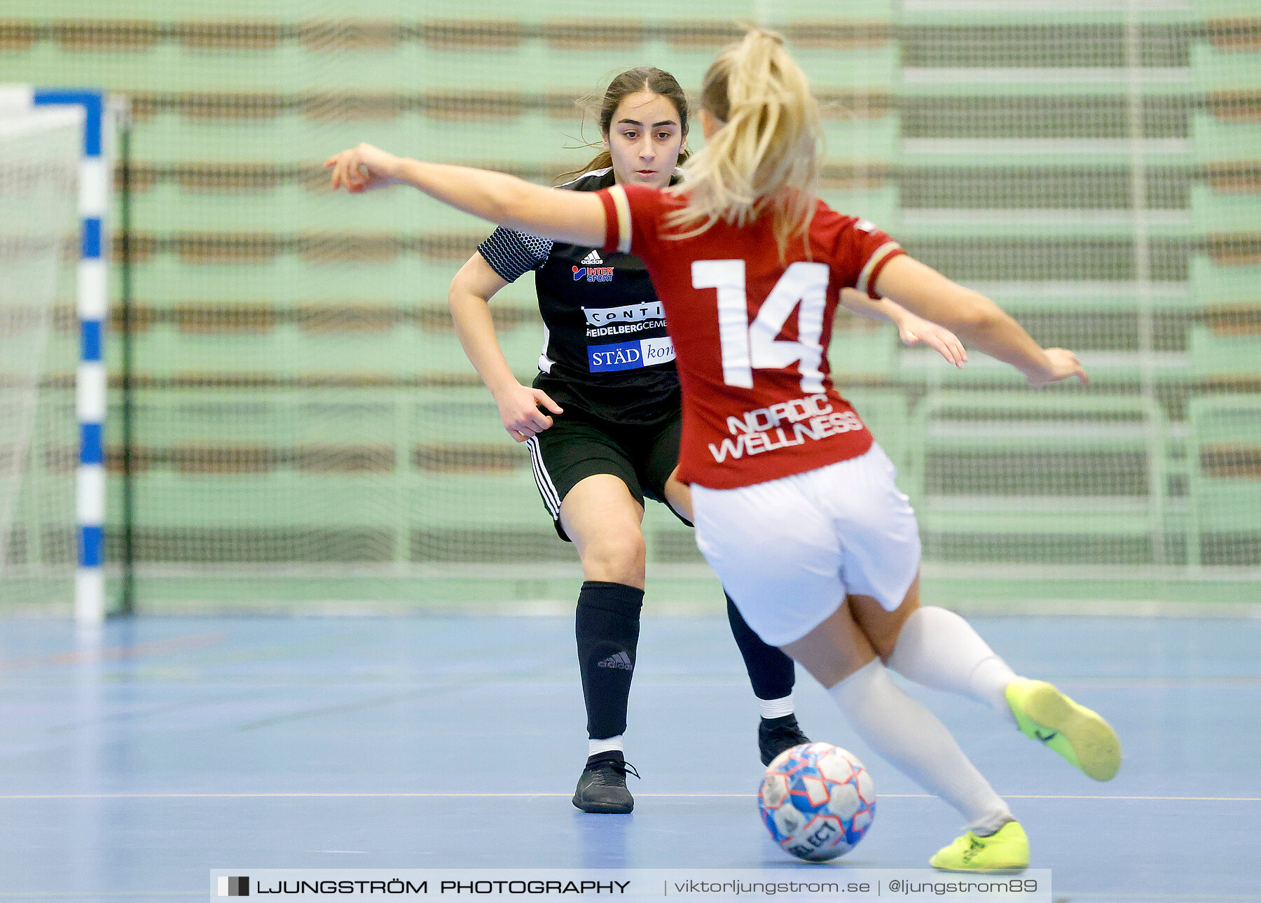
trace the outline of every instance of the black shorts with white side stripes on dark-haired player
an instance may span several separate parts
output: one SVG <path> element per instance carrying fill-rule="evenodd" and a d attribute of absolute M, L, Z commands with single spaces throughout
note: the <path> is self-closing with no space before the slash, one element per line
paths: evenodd
<path fill-rule="evenodd" d="M 527 440 L 538 495 L 552 516 L 556 534 L 570 542 L 560 525 L 560 504 L 580 480 L 596 474 L 620 479 L 641 505 L 644 497 L 666 504 L 666 480 L 678 466 L 682 428 L 682 411 L 651 427 L 560 416 L 547 429 Z M 691 526 L 677 511 L 675 516 Z"/>

